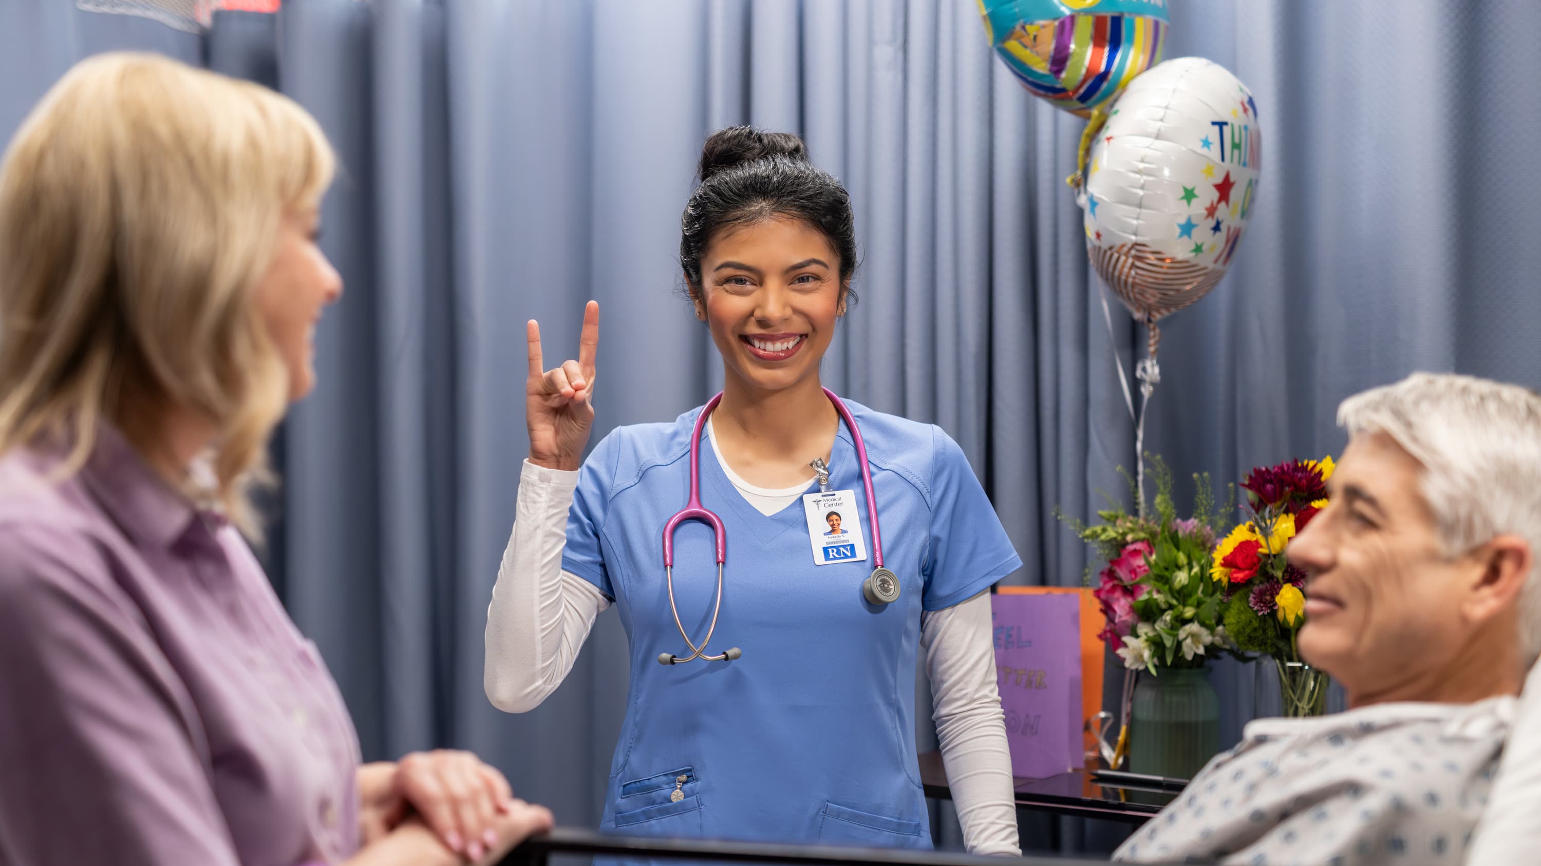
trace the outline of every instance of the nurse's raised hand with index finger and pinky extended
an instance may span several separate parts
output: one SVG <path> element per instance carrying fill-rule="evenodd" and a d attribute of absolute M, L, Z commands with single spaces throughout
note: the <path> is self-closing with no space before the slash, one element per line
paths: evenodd
<path fill-rule="evenodd" d="M 541 325 L 525 325 L 530 341 L 530 378 L 524 388 L 524 421 L 530 428 L 530 462 L 547 468 L 576 470 L 593 428 L 593 359 L 599 351 L 599 304 L 582 311 L 578 361 L 546 370 L 541 357 Z"/>

